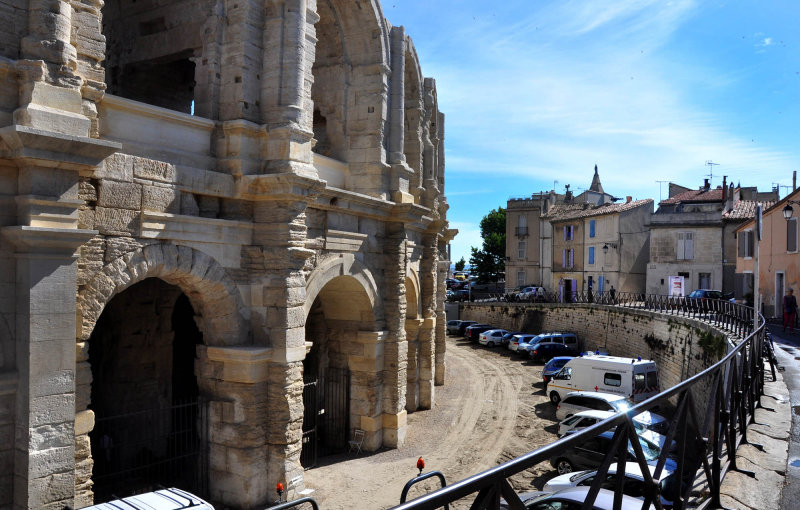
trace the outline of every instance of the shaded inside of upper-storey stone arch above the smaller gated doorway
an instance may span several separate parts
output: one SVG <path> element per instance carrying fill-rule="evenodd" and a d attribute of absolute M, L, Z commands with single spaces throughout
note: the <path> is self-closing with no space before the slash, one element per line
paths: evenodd
<path fill-rule="evenodd" d="M 349 164 L 348 189 L 381 195 L 380 179 L 363 177 L 380 174 L 385 163 L 373 155 L 385 148 L 389 28 L 377 0 L 320 0 L 317 14 L 315 152 Z"/>

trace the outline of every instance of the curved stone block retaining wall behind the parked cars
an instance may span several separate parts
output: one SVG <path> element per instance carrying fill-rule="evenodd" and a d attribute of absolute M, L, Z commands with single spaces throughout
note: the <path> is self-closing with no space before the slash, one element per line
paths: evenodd
<path fill-rule="evenodd" d="M 698 340 L 706 333 L 722 335 L 710 325 L 686 317 L 601 305 L 466 304 L 459 317 L 509 331 L 574 332 L 584 350 L 603 349 L 613 356 L 655 360 L 662 390 L 717 362 Z M 705 388 L 701 390 L 703 396 L 705 392 Z"/>

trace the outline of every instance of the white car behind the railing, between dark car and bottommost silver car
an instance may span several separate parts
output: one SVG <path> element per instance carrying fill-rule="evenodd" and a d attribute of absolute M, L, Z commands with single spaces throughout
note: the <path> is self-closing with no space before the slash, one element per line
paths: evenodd
<path fill-rule="evenodd" d="M 650 469 L 650 476 L 652 477 L 656 467 L 648 467 Z M 602 489 L 614 490 L 617 481 L 617 469 L 618 466 L 616 462 L 608 467 L 606 479 L 601 485 Z M 596 476 L 597 470 L 578 471 L 576 473 L 558 475 L 555 478 L 551 478 L 544 487 L 542 487 L 542 491 L 558 492 L 569 489 L 570 487 L 589 487 L 594 482 Z M 662 506 L 672 506 L 672 502 L 675 499 L 675 489 L 677 489 L 675 478 L 674 471 L 662 469 L 661 476 L 654 479 L 659 485 Z M 644 474 L 642 474 L 642 469 L 639 467 L 639 464 L 635 462 L 625 463 L 625 486 L 623 488 L 623 494 L 640 500 L 644 499 L 645 494 L 647 494 Z M 641 503 L 639 505 L 641 506 Z"/>

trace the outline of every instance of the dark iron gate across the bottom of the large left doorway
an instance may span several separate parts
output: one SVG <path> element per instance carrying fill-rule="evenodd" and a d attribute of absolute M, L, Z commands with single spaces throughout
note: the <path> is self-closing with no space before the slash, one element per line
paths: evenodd
<path fill-rule="evenodd" d="M 208 496 L 204 401 L 97 419 L 91 432 L 95 503 L 179 487 Z"/>

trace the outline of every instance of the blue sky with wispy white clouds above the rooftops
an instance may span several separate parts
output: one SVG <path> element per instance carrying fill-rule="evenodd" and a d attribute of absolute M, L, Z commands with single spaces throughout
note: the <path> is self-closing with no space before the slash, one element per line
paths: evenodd
<path fill-rule="evenodd" d="M 800 170 L 797 0 L 495 4 L 382 1 L 446 115 L 454 261 L 491 209 L 580 192 L 595 164 L 607 192 L 656 201 L 656 181 L 698 187 L 708 160 L 714 186 L 768 190 Z"/>

